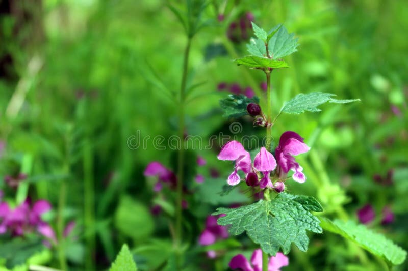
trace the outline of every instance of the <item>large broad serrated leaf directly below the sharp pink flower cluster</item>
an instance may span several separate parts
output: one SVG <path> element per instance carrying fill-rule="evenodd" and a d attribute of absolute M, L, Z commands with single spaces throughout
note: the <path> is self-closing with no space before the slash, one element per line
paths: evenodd
<path fill-rule="evenodd" d="M 290 252 L 292 242 L 306 251 L 309 238 L 306 230 L 322 233 L 319 219 L 310 211 L 323 212 L 320 203 L 313 197 L 281 193 L 271 201 L 260 200 L 234 209 L 218 208 L 213 215 L 226 214 L 218 218 L 219 225 L 231 225 L 230 233 L 246 231 L 262 250 L 275 255 L 282 248 Z"/>

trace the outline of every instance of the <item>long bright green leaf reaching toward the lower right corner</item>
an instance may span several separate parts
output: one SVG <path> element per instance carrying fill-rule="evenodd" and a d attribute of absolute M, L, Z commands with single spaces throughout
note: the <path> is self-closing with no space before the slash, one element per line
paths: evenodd
<path fill-rule="evenodd" d="M 384 235 L 367 229 L 364 225 L 357 225 L 353 221 L 331 221 L 320 218 L 323 229 L 340 234 L 355 244 L 384 259 L 388 265 L 398 265 L 405 261 L 406 251 L 395 245 Z"/>

